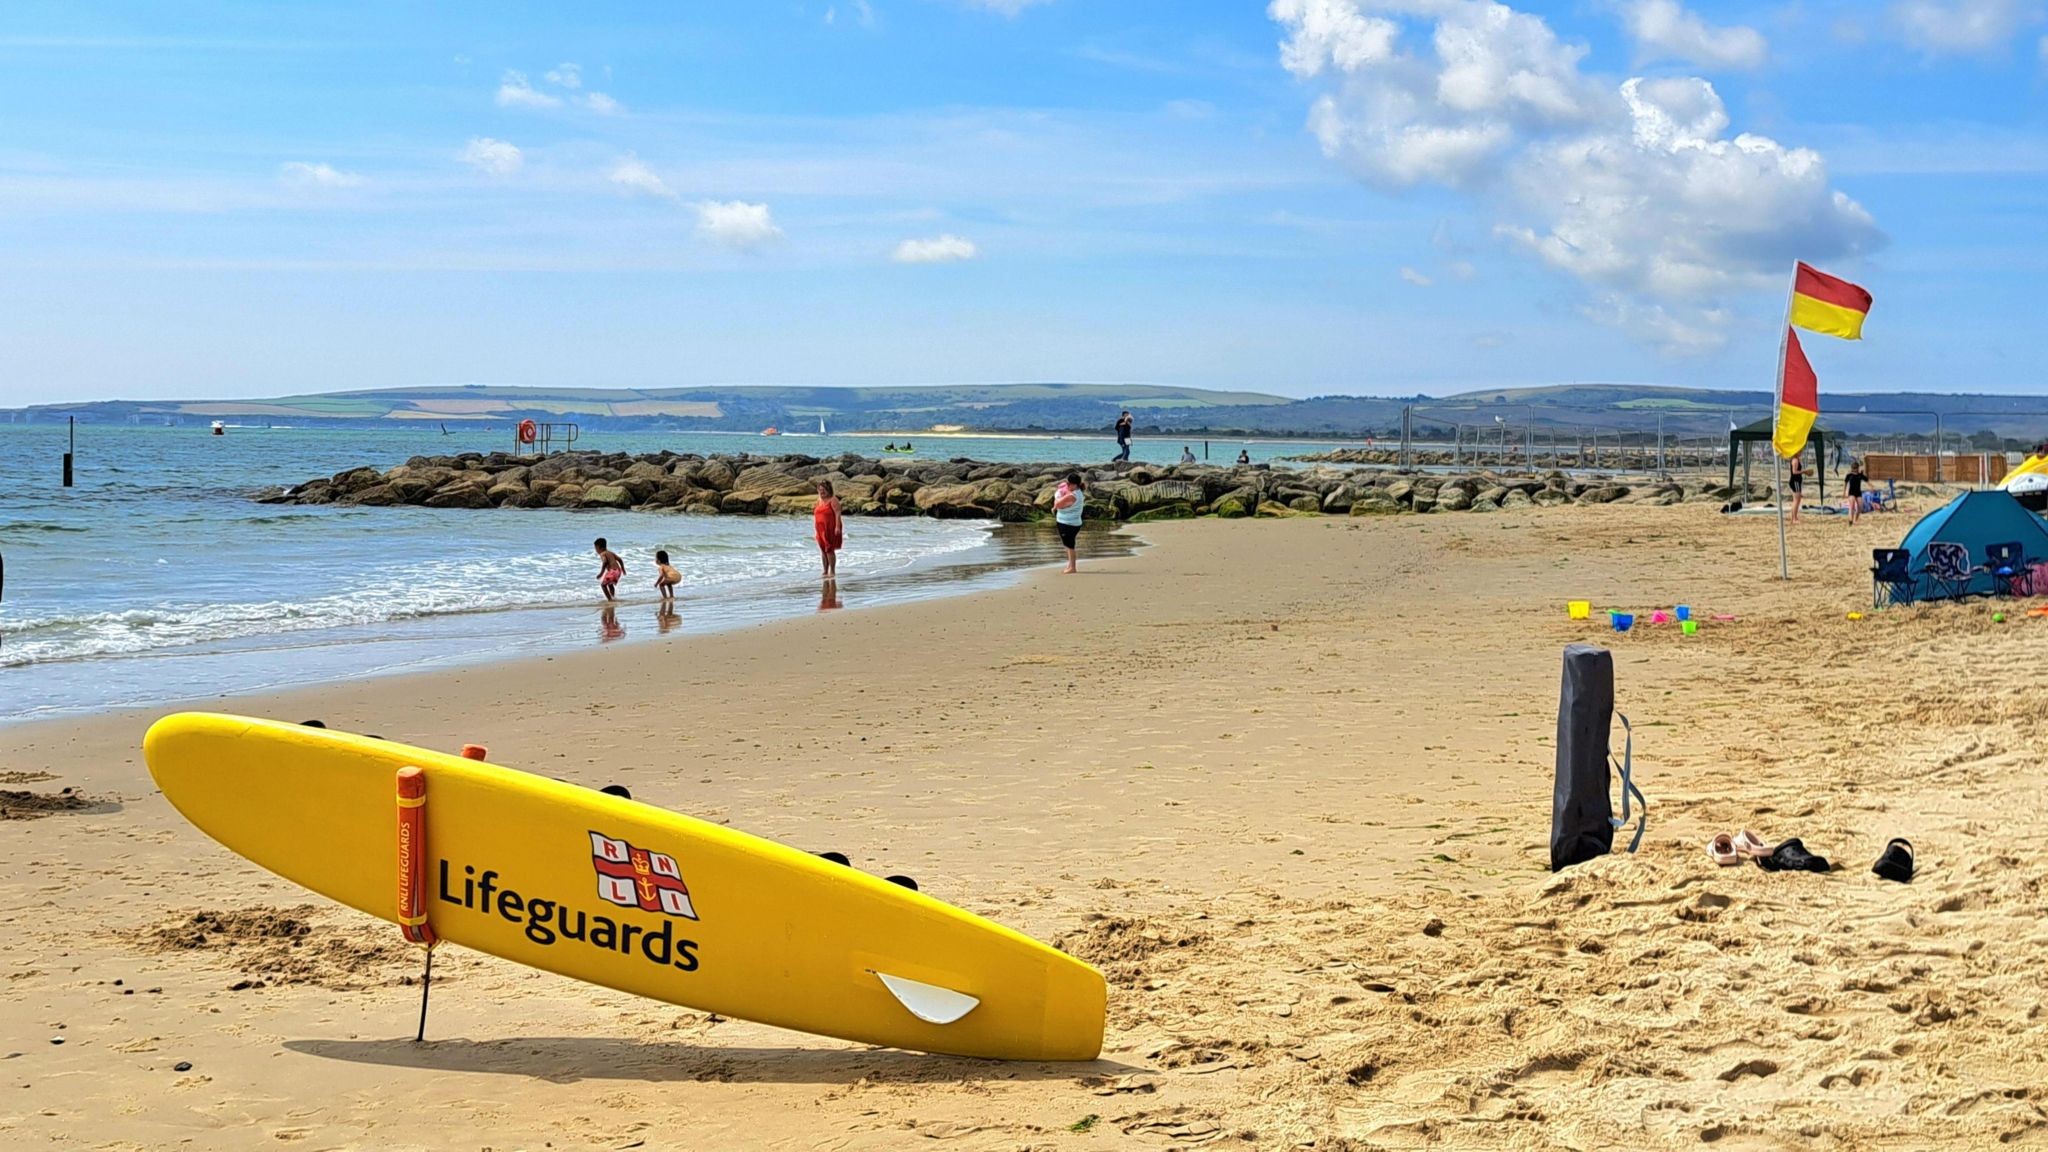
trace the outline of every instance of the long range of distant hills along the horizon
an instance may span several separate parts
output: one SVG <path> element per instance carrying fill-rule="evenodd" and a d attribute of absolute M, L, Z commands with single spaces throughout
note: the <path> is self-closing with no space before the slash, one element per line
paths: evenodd
<path fill-rule="evenodd" d="M 1724 433 L 1729 422 L 1769 414 L 1765 392 L 1716 392 L 1632 383 L 1563 383 L 1427 398 L 1210 392 L 1118 383 L 991 383 L 899 387 L 522 387 L 436 385 L 330 392 L 266 400 L 100 400 L 0 412 L 0 422 L 78 416 L 86 422 L 205 424 L 211 420 L 299 426 L 377 426 L 389 420 L 510 426 L 573 420 L 588 430 L 725 430 L 768 426 L 838 433 L 1100 433 L 1130 408 L 1153 435 L 1266 435 L 1358 439 L 1399 435 L 1403 410 L 1417 430 L 1477 424 L 1653 430 L 1686 437 Z M 2048 439 L 2044 396 L 1829 394 L 1823 424 L 1858 435 L 1925 435 L 1935 412 L 1950 435 Z"/>

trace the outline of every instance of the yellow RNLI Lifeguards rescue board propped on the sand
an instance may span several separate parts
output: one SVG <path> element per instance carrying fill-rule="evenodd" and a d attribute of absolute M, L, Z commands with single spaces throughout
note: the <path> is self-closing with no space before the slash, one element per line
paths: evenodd
<path fill-rule="evenodd" d="M 1094 968 L 772 840 L 444 752 L 240 715 L 164 717 L 143 754 L 203 832 L 393 922 L 395 777 L 422 769 L 426 908 L 442 941 L 864 1043 L 993 1060 L 1102 1050 Z"/>

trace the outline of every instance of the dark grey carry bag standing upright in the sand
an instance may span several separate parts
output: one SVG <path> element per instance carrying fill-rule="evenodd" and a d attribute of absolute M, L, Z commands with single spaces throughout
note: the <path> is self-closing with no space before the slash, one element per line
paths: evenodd
<path fill-rule="evenodd" d="M 1614 654 L 1565 648 L 1556 701 L 1556 795 L 1550 806 L 1550 871 L 1614 851 L 1608 799 L 1608 728 L 1614 722 Z"/>

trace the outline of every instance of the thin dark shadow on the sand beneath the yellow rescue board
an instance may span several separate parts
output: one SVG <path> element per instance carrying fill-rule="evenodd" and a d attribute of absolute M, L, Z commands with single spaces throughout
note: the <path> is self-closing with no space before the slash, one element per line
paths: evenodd
<path fill-rule="evenodd" d="M 969 1060 L 893 1047 L 700 1047 L 623 1037 L 545 1035 L 516 1039 L 287 1039 L 322 1060 L 434 1072 L 578 1080 L 717 1080 L 745 1084 L 1081 1080 L 1143 1072 L 1114 1060 L 1085 1064 Z"/>

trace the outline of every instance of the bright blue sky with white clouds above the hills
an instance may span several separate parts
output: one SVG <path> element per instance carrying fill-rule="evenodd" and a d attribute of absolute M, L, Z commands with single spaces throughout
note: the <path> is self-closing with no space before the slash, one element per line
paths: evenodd
<path fill-rule="evenodd" d="M 2048 0 L 0 12 L 0 406 L 2048 392 Z"/>

